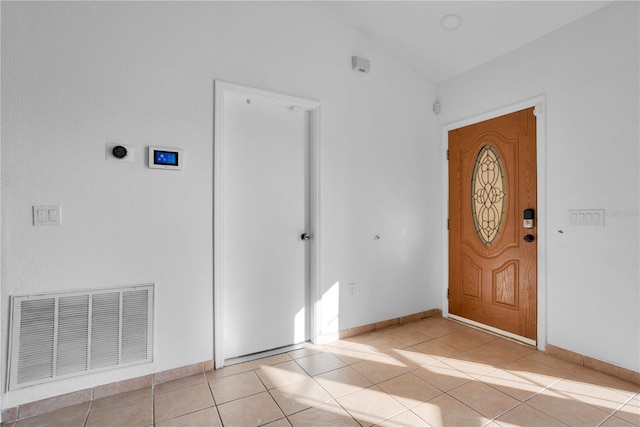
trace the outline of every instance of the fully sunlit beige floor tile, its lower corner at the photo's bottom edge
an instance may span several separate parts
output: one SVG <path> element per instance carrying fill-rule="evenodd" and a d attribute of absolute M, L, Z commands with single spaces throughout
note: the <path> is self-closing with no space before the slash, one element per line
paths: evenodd
<path fill-rule="evenodd" d="M 363 426 L 371 426 L 406 411 L 397 400 L 376 386 L 338 399 L 338 403 Z"/>

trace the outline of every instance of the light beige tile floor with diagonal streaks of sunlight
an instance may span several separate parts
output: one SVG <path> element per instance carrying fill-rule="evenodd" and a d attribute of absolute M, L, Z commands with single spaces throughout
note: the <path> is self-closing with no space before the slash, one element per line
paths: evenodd
<path fill-rule="evenodd" d="M 53 426 L 640 426 L 640 385 L 442 318 L 21 420 Z"/>

